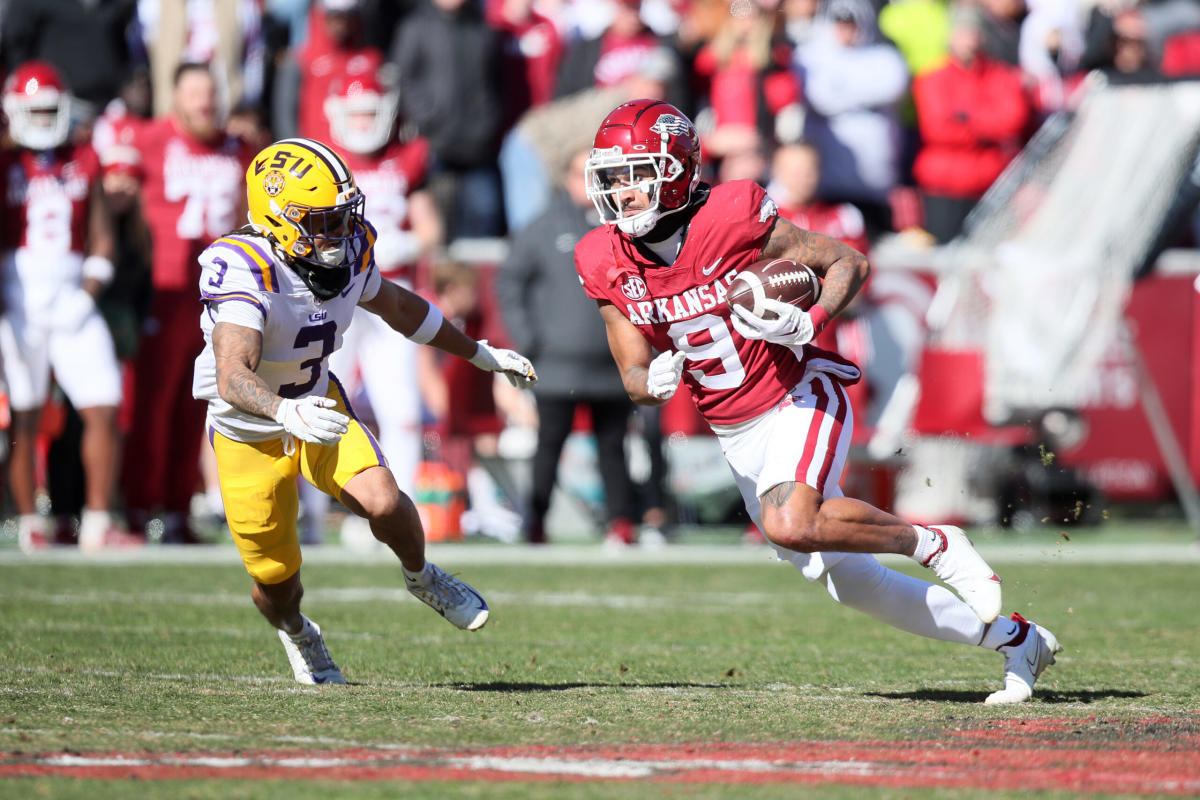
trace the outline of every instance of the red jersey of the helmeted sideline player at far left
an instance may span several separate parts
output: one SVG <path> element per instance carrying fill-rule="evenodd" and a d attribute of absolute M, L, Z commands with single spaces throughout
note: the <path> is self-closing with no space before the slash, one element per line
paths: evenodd
<path fill-rule="evenodd" d="M 0 155 L 5 180 L 4 241 L 42 257 L 85 254 L 91 185 L 100 158 L 91 145 Z"/>

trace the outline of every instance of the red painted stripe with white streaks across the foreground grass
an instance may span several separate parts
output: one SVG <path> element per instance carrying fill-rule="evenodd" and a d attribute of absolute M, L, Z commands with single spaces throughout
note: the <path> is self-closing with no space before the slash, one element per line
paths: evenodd
<path fill-rule="evenodd" d="M 840 783 L 1082 793 L 1195 794 L 1200 736 L 1111 746 L 1042 736 L 1081 721 L 1006 721 L 916 742 L 800 741 L 479 750 L 0 754 L 0 777 L 100 780 L 655 781 Z M 1094 730 L 1094 728 L 1092 728 Z M 1003 744 L 1000 744 L 1003 742 Z"/>

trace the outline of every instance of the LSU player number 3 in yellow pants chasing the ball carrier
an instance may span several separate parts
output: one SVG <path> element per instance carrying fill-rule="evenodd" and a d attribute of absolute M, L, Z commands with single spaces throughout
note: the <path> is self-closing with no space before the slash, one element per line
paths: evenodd
<path fill-rule="evenodd" d="M 536 377 L 523 356 L 470 339 L 436 306 L 380 281 L 362 193 L 324 144 L 265 148 L 246 169 L 246 197 L 250 224 L 200 255 L 205 347 L 193 391 L 209 403 L 226 516 L 254 604 L 278 628 L 299 682 L 340 684 L 320 627 L 300 610 L 298 475 L 367 519 L 400 558 L 408 590 L 451 624 L 474 631 L 488 615 L 479 593 L 425 560 L 412 500 L 329 372 L 355 308 L 515 385 Z"/>

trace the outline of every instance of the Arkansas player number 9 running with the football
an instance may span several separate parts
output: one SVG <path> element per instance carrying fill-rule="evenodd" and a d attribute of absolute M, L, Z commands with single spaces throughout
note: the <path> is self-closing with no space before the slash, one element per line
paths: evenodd
<path fill-rule="evenodd" d="M 607 224 L 576 246 L 576 269 L 634 402 L 660 405 L 682 378 L 780 559 L 900 630 L 998 649 L 1004 688 L 988 702 L 1027 700 L 1060 649 L 1054 634 L 1000 616 L 1000 578 L 961 530 L 911 525 L 838 485 L 853 427 L 846 385 L 859 373 L 809 342 L 866 281 L 866 258 L 781 218 L 752 181 L 700 184 L 696 128 L 661 101 L 624 103 L 601 122 L 587 180 Z M 824 281 L 820 303 L 768 300 L 770 320 L 731 315 L 727 288 L 760 258 L 811 266 Z M 872 553 L 908 555 L 966 602 Z"/>

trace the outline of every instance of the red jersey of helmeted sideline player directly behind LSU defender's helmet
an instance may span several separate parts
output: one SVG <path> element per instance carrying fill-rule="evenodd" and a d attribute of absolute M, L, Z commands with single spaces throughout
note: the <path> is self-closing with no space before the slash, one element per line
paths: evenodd
<path fill-rule="evenodd" d="M 342 158 L 354 173 L 354 182 L 366 198 L 366 216 L 378 231 L 376 240 L 376 258 L 390 252 L 386 241 L 379 246 L 379 240 L 386 240 L 408 224 L 408 196 L 425 184 L 425 172 L 430 162 L 430 145 L 425 139 L 392 143 L 382 152 L 360 156 L 342 152 Z M 379 271 L 384 277 L 395 279 L 403 263 L 385 264 L 379 260 Z"/>

